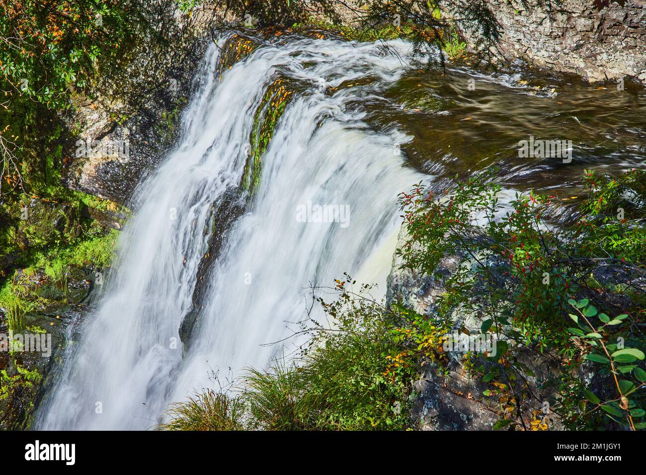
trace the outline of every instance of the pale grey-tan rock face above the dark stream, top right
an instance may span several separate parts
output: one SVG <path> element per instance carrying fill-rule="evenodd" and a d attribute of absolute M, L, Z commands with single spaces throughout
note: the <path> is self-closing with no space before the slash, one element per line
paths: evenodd
<path fill-rule="evenodd" d="M 503 34 L 499 52 L 587 81 L 632 76 L 646 85 L 646 0 L 562 0 L 525 8 L 487 0 Z M 459 4 L 458 4 L 459 5 Z M 451 16 L 457 16 L 448 12 Z M 473 32 L 462 32 L 475 39 Z"/>

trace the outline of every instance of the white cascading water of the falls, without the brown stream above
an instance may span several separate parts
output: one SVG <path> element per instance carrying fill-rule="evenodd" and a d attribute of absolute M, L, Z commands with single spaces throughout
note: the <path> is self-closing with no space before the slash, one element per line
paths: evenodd
<path fill-rule="evenodd" d="M 404 42 L 391 47 L 408 54 Z M 393 153 L 405 138 L 371 130 L 360 104 L 378 100 L 375 91 L 399 78 L 401 59 L 384 55 L 379 43 L 294 39 L 256 49 L 219 82 L 217 63 L 213 46 L 183 114 L 182 139 L 138 189 L 116 271 L 67 350 L 38 428 L 149 428 L 169 403 L 208 386 L 213 368 L 266 367 L 282 346 L 262 344 L 289 336 L 285 321 L 303 317 L 308 282 L 327 285 L 348 271 L 384 291 L 399 227 L 396 196 L 421 176 Z M 213 203 L 240 183 L 253 114 L 277 70 L 298 92 L 262 158 L 254 200 L 207 276 L 209 294 L 182 355 L 172 341 L 207 251 L 203 229 Z M 368 75 L 369 85 L 326 94 Z M 308 202 L 349 215 L 302 222 L 299 206 Z"/>

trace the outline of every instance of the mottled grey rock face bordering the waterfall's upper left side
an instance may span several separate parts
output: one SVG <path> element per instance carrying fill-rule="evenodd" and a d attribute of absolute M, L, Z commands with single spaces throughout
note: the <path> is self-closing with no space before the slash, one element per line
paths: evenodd
<path fill-rule="evenodd" d="M 67 119 L 73 136 L 67 187 L 123 205 L 160 164 L 179 134 L 180 113 L 210 40 L 200 30 L 176 35 L 138 45 L 116 83 L 76 100 Z"/>

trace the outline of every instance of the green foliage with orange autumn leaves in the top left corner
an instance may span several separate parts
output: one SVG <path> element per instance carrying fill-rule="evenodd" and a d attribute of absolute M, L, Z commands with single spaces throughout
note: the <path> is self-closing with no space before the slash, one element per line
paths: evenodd
<path fill-rule="evenodd" d="M 112 0 L 0 2 L 3 90 L 66 108 L 69 91 L 85 89 L 131 39 L 135 7 Z"/>

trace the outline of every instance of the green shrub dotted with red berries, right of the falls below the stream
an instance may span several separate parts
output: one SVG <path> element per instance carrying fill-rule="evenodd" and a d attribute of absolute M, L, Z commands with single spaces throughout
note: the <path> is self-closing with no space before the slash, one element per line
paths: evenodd
<path fill-rule="evenodd" d="M 618 180 L 587 172 L 587 182 L 596 185 L 581 206 L 578 222 L 570 226 L 553 224 L 550 216 L 561 212 L 556 196 L 516 194 L 505 213 L 505 206 L 499 203 L 500 187 L 492 182 L 492 176 L 492 172 L 477 174 L 459 182 L 451 193 L 437 193 L 439 196 L 422 185 L 402 193 L 399 201 L 410 239 L 397 253 L 405 267 L 421 269 L 428 275 L 433 275 L 446 257 L 459 261 L 457 269 L 443 280 L 446 293 L 434 302 L 435 318 L 448 322 L 456 313 L 477 315 L 481 330 L 494 332 L 498 346 L 503 344 L 501 357 L 486 358 L 490 360 L 487 364 L 467 362 L 473 374 L 495 386 L 490 395 L 508 401 L 505 409 L 510 412 L 503 419 L 508 422 L 503 425 L 528 427 L 531 422 L 532 428 L 543 427 L 539 419 L 530 421 L 519 411 L 523 400 L 536 395 L 526 394 L 516 376 L 529 369 L 521 363 L 523 355 L 539 352 L 563 362 L 561 373 L 550 382 L 556 388 L 556 405 L 552 408 L 563 424 L 572 428 L 607 427 L 608 422 L 599 418 L 598 412 L 583 412 L 579 404 L 572 403 L 585 399 L 585 388 L 572 377 L 572 370 L 589 354 L 581 341 L 612 348 L 610 341 L 622 338 L 632 341 L 633 346 L 645 345 L 643 333 L 634 326 L 643 314 L 646 262 L 642 173 L 629 171 Z M 630 203 L 625 202 L 627 199 Z M 612 212 L 618 204 L 626 209 L 623 220 Z M 584 319 L 596 317 L 597 308 L 622 315 L 610 319 L 599 313 L 600 325 L 573 328 L 568 324 L 568 299 L 574 296 L 583 302 L 579 308 Z M 619 328 L 623 319 L 630 322 L 625 333 Z M 632 351 L 613 354 L 613 358 L 627 362 L 634 358 L 634 362 L 641 350 Z M 610 360 L 610 355 L 592 354 L 588 359 L 603 363 L 604 358 Z M 614 370 L 610 373 L 614 375 Z M 605 387 L 612 384 L 609 374 L 600 376 Z M 620 384 L 627 383 L 615 385 L 625 395 Z M 630 394 L 638 385 L 631 388 Z M 626 422 L 626 410 L 636 408 L 636 414 L 641 413 L 640 401 L 624 401 L 624 406 L 616 408 L 614 405 L 620 402 L 611 399 L 601 409 L 608 412 L 610 406 L 623 410 L 621 417 Z M 640 428 L 640 424 L 634 428 Z"/>

